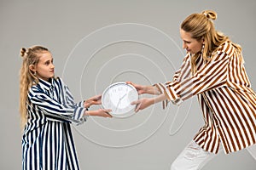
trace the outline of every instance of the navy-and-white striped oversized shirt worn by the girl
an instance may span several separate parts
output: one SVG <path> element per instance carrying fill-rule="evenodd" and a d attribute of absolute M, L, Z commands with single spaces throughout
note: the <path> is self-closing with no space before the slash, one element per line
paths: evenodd
<path fill-rule="evenodd" d="M 70 123 L 86 120 L 83 105 L 74 103 L 61 78 L 50 82 L 40 79 L 30 88 L 22 137 L 22 169 L 79 169 Z"/>

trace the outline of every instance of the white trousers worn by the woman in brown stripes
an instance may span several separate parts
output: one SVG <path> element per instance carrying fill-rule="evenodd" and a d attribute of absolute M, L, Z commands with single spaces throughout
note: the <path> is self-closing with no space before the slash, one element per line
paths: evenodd
<path fill-rule="evenodd" d="M 221 148 L 218 152 L 222 151 Z M 256 161 L 256 144 L 247 148 Z M 192 140 L 172 162 L 171 170 L 200 170 L 217 154 L 207 152 Z"/>

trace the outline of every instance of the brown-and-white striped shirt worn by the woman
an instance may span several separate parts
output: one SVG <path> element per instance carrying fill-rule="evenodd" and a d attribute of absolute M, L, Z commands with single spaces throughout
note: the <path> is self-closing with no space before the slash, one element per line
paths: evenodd
<path fill-rule="evenodd" d="M 256 94 L 241 53 L 230 42 L 221 45 L 211 58 L 205 63 L 199 57 L 192 75 L 187 54 L 172 82 L 155 86 L 176 105 L 197 95 L 205 124 L 195 142 L 212 153 L 218 153 L 221 143 L 228 154 L 256 143 Z"/>

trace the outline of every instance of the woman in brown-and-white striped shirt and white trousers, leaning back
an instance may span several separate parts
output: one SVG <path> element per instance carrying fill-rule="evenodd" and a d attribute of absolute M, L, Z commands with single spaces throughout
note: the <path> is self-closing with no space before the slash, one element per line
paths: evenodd
<path fill-rule="evenodd" d="M 154 86 L 128 82 L 139 94 L 158 94 L 133 102 L 136 111 L 160 101 L 166 105 L 166 100 L 180 105 L 197 95 L 205 125 L 172 163 L 172 169 L 200 169 L 221 145 L 227 154 L 256 143 L 256 94 L 243 65 L 241 47 L 215 30 L 212 20 L 216 18 L 214 11 L 207 10 L 183 20 L 180 35 L 187 55 L 172 82 Z"/>

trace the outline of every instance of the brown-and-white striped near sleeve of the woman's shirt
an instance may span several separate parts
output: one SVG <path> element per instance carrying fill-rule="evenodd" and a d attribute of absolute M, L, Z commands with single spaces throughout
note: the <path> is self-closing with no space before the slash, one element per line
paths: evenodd
<path fill-rule="evenodd" d="M 229 49 L 226 48 L 212 54 L 212 59 L 196 71 L 193 76 L 182 80 L 176 79 L 173 82 L 157 83 L 155 86 L 161 94 L 166 94 L 167 99 L 175 105 L 180 105 L 184 100 L 196 94 L 223 86 L 227 79 L 230 60 L 227 53 Z"/>

